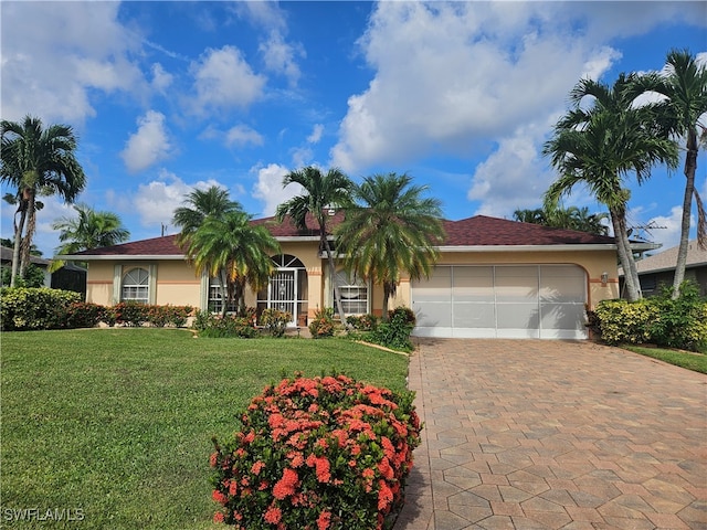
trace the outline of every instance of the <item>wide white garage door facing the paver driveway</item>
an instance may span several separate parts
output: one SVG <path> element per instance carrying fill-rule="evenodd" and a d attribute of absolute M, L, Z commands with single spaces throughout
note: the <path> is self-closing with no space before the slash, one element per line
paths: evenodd
<path fill-rule="evenodd" d="M 418 337 L 585 339 L 577 265 L 440 265 L 412 285 Z"/>

